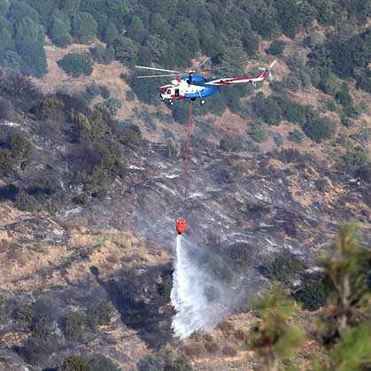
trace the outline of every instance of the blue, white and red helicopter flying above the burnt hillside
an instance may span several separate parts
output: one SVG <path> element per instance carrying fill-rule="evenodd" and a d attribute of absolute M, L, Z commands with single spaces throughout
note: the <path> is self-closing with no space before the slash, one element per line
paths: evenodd
<path fill-rule="evenodd" d="M 201 62 L 198 68 L 204 66 L 209 59 L 211 58 L 206 58 L 203 62 Z M 190 99 L 191 101 L 200 99 L 200 104 L 205 104 L 205 98 L 213 96 L 219 90 L 220 86 L 251 82 L 253 87 L 256 88 L 257 82 L 264 81 L 266 80 L 266 78 L 272 80 L 271 69 L 276 63 L 277 60 L 274 60 L 267 68 L 259 68 L 259 71 L 261 72 L 257 77 L 232 77 L 213 79 L 206 79 L 201 74 L 195 74 L 197 73 L 197 71 L 195 70 L 180 72 L 148 66 L 135 66 L 135 68 L 166 73 L 152 74 L 147 76 L 136 76 L 138 79 L 179 76 L 177 79 L 172 80 L 171 84 L 162 86 L 158 91 L 158 97 L 160 97 L 163 101 L 167 100 L 170 105 L 174 104 L 175 99 Z M 183 73 L 188 74 L 182 75 Z"/>

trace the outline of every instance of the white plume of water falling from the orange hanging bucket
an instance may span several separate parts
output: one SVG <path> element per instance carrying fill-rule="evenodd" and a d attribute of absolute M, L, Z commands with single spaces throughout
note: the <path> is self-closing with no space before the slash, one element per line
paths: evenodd
<path fill-rule="evenodd" d="M 175 336 L 184 339 L 196 331 L 207 333 L 215 328 L 236 308 L 243 294 L 236 292 L 236 274 L 211 251 L 198 248 L 183 236 L 176 237 L 174 251 L 170 298 L 176 314 L 172 328 Z"/>

